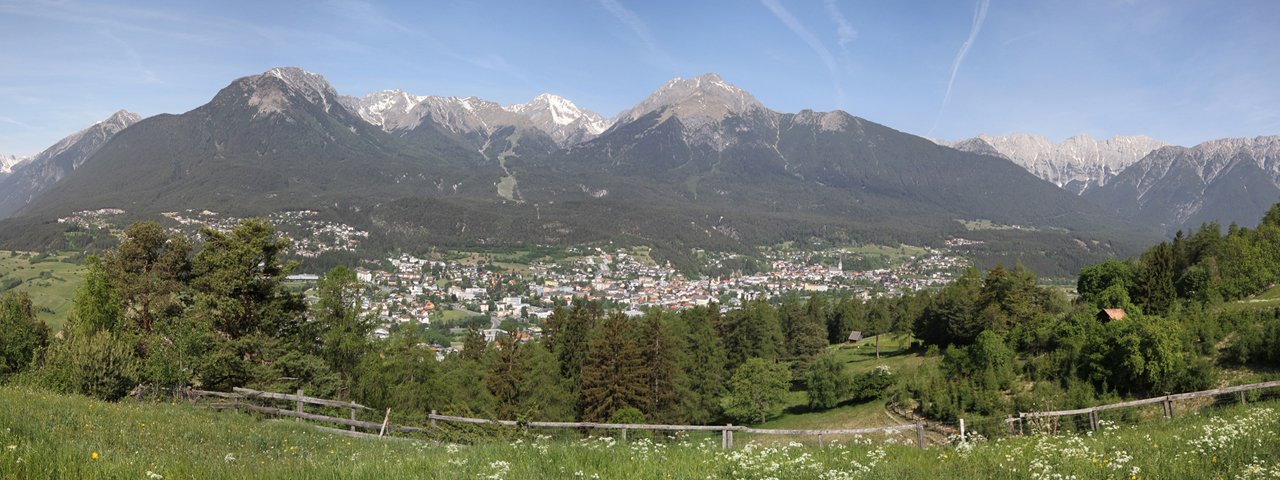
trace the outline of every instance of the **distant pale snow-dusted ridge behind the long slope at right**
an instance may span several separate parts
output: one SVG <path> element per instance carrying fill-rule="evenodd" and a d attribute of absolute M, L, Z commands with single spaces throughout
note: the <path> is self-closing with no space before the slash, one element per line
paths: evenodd
<path fill-rule="evenodd" d="M 1073 193 L 1105 186 L 1121 170 L 1167 143 L 1147 137 L 1096 140 L 1075 136 L 1053 143 L 1042 136 L 1012 133 L 980 134 L 957 142 L 940 142 L 952 148 L 983 155 L 1000 155 Z"/>

